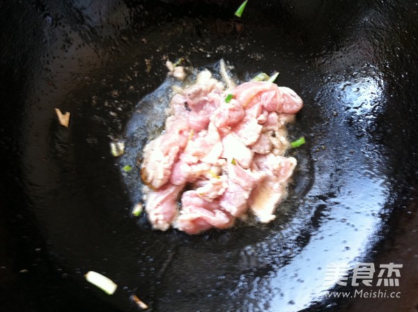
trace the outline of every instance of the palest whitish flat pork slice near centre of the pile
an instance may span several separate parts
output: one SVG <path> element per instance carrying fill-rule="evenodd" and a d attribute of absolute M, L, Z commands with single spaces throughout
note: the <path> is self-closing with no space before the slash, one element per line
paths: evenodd
<path fill-rule="evenodd" d="M 226 134 L 222 139 L 222 145 L 224 146 L 224 150 L 221 157 L 228 159 L 229 162 L 235 159 L 235 162 L 245 169 L 251 166 L 254 152 L 247 148 L 234 134 Z"/>

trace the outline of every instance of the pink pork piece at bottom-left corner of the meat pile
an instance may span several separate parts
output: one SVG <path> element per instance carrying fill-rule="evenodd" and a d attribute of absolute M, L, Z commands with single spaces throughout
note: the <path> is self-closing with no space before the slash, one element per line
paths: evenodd
<path fill-rule="evenodd" d="M 148 194 L 145 210 L 148 220 L 156 230 L 167 231 L 175 219 L 177 197 L 184 185 L 167 184 Z"/>

